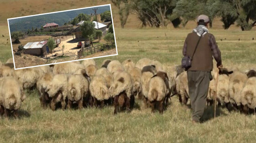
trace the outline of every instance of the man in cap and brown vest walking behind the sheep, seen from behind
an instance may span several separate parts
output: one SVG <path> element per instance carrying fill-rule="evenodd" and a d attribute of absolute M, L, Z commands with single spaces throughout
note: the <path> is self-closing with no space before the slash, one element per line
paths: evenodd
<path fill-rule="evenodd" d="M 209 83 L 212 80 L 212 56 L 217 62 L 217 67 L 222 67 L 220 50 L 215 37 L 207 29 L 208 16 L 198 16 L 197 24 L 198 26 L 186 37 L 182 52 L 184 56 L 192 57 L 191 67 L 186 70 L 193 123 L 199 122 L 204 114 Z"/>

